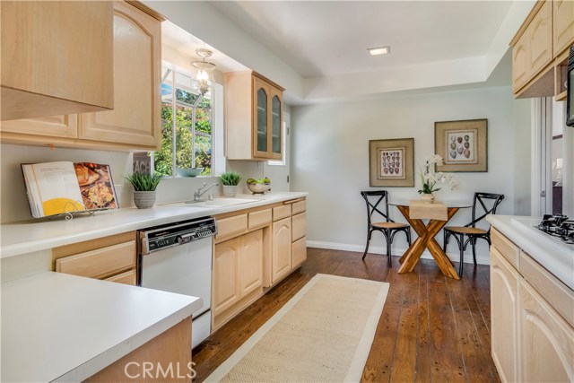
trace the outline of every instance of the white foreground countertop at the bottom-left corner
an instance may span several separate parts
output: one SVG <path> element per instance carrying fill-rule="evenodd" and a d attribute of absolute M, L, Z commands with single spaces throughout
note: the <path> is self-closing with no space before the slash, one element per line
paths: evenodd
<path fill-rule="evenodd" d="M 2 381 L 82 381 L 199 309 L 199 298 L 44 272 L 3 283 Z"/>

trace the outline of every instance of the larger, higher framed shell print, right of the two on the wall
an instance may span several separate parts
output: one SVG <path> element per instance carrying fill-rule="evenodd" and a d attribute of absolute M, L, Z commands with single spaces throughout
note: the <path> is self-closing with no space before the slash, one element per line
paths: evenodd
<path fill-rule="evenodd" d="M 435 122 L 434 148 L 444 160 L 437 171 L 488 171 L 488 120 Z"/>

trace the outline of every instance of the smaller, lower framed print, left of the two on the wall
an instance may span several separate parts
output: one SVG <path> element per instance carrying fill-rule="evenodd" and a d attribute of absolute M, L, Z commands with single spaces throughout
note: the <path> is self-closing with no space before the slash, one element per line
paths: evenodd
<path fill-rule="evenodd" d="M 414 187 L 414 138 L 369 141 L 370 187 Z"/>

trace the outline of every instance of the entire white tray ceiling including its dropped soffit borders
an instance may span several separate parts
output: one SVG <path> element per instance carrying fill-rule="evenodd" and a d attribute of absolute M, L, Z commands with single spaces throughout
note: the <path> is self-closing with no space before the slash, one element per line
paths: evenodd
<path fill-rule="evenodd" d="M 166 44 L 188 56 L 195 56 L 196 48 L 213 48 L 211 61 L 220 70 L 250 68 L 264 74 L 286 88 L 285 100 L 292 104 L 395 91 L 509 85 L 509 41 L 535 4 L 535 0 L 143 2 L 181 27 L 164 28 Z M 386 45 L 391 47 L 389 55 L 370 57 L 367 52 Z"/>

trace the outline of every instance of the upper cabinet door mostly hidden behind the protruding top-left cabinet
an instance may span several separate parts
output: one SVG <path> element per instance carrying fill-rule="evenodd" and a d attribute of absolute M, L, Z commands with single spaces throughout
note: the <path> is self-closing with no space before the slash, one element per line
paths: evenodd
<path fill-rule="evenodd" d="M 21 136 L 23 141 L 48 144 L 40 136 L 76 138 L 78 135 L 77 115 L 51 116 L 44 118 L 15 119 L 0 123 L 0 132 L 6 138 L 15 139 Z M 12 133 L 13 135 L 4 135 Z"/>

